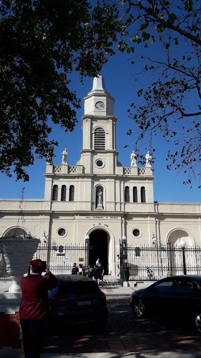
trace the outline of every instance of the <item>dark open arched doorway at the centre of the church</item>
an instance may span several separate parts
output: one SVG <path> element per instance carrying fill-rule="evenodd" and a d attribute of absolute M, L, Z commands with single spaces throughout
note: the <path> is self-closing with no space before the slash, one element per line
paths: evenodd
<path fill-rule="evenodd" d="M 89 235 L 89 265 L 93 267 L 97 258 L 103 263 L 105 274 L 108 275 L 108 233 L 95 230 Z"/>

